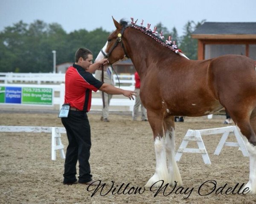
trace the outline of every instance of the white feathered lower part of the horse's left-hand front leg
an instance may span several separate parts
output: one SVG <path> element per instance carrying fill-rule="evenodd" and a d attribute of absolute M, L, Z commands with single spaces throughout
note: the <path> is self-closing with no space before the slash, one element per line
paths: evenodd
<path fill-rule="evenodd" d="M 154 183 L 160 180 L 164 180 L 164 184 L 167 184 L 169 181 L 163 137 L 156 137 L 154 141 L 154 148 L 156 153 L 156 171 L 154 175 L 148 180 L 145 187 L 151 187 Z M 161 184 L 162 182 L 158 182 L 154 185 L 154 187 L 160 187 Z"/>

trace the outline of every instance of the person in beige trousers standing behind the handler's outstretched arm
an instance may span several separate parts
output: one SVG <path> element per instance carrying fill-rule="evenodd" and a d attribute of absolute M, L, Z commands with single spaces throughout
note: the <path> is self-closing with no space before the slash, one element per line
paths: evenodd
<path fill-rule="evenodd" d="M 95 78 L 98 79 L 99 81 L 102 81 L 102 71 L 101 70 L 96 70 L 95 71 Z M 112 72 L 112 68 L 108 67 L 107 71 L 104 71 L 104 82 L 110 84 L 110 85 L 114 85 L 114 80 L 113 80 L 113 72 Z M 108 120 L 108 115 L 109 115 L 109 104 L 110 104 L 110 100 L 112 98 L 112 94 L 107 94 L 105 92 L 104 93 L 104 99 L 105 99 L 105 108 L 103 108 L 102 106 L 102 116 L 101 116 L 101 121 L 103 122 L 109 122 Z M 102 93 L 101 93 L 102 96 Z"/>

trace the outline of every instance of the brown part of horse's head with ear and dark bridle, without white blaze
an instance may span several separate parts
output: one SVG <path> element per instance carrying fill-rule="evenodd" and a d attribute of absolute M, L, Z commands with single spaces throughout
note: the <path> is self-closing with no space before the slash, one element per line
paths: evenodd
<path fill-rule="evenodd" d="M 108 37 L 108 45 L 106 48 L 110 64 L 128 59 L 125 49 L 125 40 L 123 38 L 125 28 L 128 27 L 127 22 L 121 20 L 121 22 L 118 23 L 114 18 L 113 22 L 116 26 L 116 30 Z"/>

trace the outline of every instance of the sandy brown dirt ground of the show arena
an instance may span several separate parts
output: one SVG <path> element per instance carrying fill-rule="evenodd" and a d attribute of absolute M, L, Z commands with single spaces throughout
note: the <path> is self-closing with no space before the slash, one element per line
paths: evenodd
<path fill-rule="evenodd" d="M 133 122 L 131 116 L 111 114 L 111 122 L 104 123 L 99 121 L 99 114 L 89 113 L 88 116 L 92 130 L 91 170 L 94 179 L 106 184 L 102 192 L 99 190 L 93 195 L 95 187 L 87 189 L 81 184 L 62 184 L 64 160 L 59 152 L 56 161 L 51 160 L 49 133 L 0 133 L 0 203 L 256 203 L 256 195 L 236 193 L 241 184 L 248 181 L 248 157 L 244 157 L 237 147 L 224 147 L 219 156 L 213 154 L 221 135 L 203 136 L 211 165 L 204 164 L 199 154 L 183 153 L 178 167 L 183 178 L 182 192 L 187 189 L 186 195 L 180 194 L 181 188 L 172 191 L 174 187 L 167 187 L 154 196 L 156 191 L 153 190 L 157 189 L 146 188 L 143 192 L 155 170 L 154 142 L 148 122 Z M 210 120 L 207 117 L 187 117 L 185 122 L 176 123 L 176 150 L 188 129 L 224 127 L 223 121 L 224 116 L 214 116 Z M 57 114 L 52 113 L 0 113 L 0 125 L 62 127 Z M 234 142 L 233 138 L 230 136 L 229 141 Z M 65 134 L 61 140 L 66 148 Z M 191 143 L 189 147 L 197 145 Z M 212 184 L 207 182 L 200 186 L 209 180 L 216 181 L 216 189 L 227 184 L 224 191 L 228 187 L 234 189 L 238 184 L 233 191 L 236 194 L 221 195 L 214 191 L 205 195 L 212 191 Z M 141 190 L 129 195 L 128 190 L 131 189 L 131 193 L 133 187 Z"/>

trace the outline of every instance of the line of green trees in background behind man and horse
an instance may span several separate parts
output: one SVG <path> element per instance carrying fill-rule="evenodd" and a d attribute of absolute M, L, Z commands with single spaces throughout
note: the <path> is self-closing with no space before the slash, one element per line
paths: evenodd
<path fill-rule="evenodd" d="M 178 37 L 175 27 L 171 31 L 158 23 L 157 31 L 163 31 L 190 59 L 197 59 L 197 41 L 191 38 L 192 31 L 204 23 L 189 21 L 184 27 L 184 35 Z M 58 23 L 47 24 L 35 20 L 31 24 L 20 21 L 0 32 L 0 72 L 51 72 L 52 51 L 56 51 L 56 64 L 74 62 L 78 48 L 90 49 L 94 59 L 105 45 L 110 32 L 102 28 L 93 31 L 75 30 L 69 34 Z M 166 39 L 165 39 L 166 40 Z"/>

